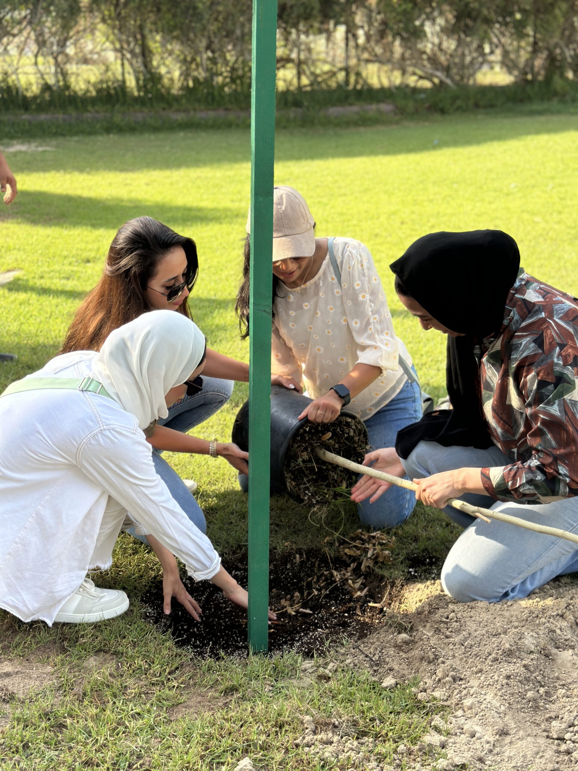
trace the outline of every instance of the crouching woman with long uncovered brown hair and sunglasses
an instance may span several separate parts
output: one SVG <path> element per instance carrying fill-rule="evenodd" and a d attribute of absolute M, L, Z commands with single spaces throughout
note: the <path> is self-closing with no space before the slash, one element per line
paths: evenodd
<path fill-rule="evenodd" d="M 61 353 L 99 351 L 110 332 L 146 311 L 170 310 L 191 318 L 187 300 L 198 272 L 197 247 L 192 238 L 175 233 L 151 217 L 126 222 L 113 238 L 99 283 L 76 311 Z M 232 381 L 249 379 L 248 364 L 211 348 L 207 348 L 204 362 L 202 379 L 173 389 L 168 416 L 146 432 L 155 449 L 156 473 L 187 513 L 190 501 L 185 499 L 190 499 L 189 490 L 197 485 L 184 480 L 187 490 L 180 476 L 160 457 L 163 450 L 220 456 L 238 472 L 247 473 L 247 453 L 237 445 L 187 435 L 230 399 Z M 298 388 L 291 378 L 279 375 L 272 376 L 271 382 Z"/>

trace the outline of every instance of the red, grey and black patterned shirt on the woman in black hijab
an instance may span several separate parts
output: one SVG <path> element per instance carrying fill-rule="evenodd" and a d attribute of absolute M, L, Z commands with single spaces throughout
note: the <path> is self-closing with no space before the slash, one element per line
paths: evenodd
<path fill-rule="evenodd" d="M 578 300 L 520 268 L 483 351 L 484 415 L 512 460 L 482 469 L 486 492 L 524 503 L 578 495 Z"/>

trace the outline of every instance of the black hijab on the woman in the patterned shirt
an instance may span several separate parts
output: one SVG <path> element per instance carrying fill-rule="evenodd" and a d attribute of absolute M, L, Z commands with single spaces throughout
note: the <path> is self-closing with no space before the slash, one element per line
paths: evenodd
<path fill-rule="evenodd" d="M 430 412 L 402 429 L 395 443 L 398 455 L 407 458 L 421 441 L 492 446 L 479 393 L 480 346 L 502 327 L 519 269 L 516 241 L 502 231 L 431 233 L 389 267 L 433 318 L 452 332 L 465 333 L 448 336 L 445 383 L 453 409 Z"/>

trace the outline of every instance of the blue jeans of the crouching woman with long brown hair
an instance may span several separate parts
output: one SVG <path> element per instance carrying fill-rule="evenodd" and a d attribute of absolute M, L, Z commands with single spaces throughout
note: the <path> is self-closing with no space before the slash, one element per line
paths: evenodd
<path fill-rule="evenodd" d="M 189 431 L 220 410 L 223 404 L 230 399 L 233 385 L 232 380 L 203 377 L 203 390 L 194 396 L 185 396 L 181 402 L 173 404 L 169 408 L 168 416 L 160 419 L 159 425 L 183 433 Z M 196 524 L 202 533 L 206 533 L 207 523 L 203 511 L 180 476 L 166 463 L 166 460 L 161 458 L 162 452 L 161 449 L 153 449 L 153 463 L 156 473 L 169 488 L 170 494 L 191 522 Z M 128 532 L 145 544 L 147 543 L 146 536 L 137 535 L 134 527 L 129 527 Z"/>

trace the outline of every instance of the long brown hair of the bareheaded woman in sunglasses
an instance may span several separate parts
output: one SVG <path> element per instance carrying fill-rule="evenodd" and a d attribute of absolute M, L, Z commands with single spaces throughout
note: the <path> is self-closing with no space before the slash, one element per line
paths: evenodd
<path fill-rule="evenodd" d="M 110 244 L 102 277 L 82 303 L 66 333 L 61 353 L 99 351 L 114 329 L 150 310 L 146 286 L 165 254 L 183 247 L 187 256 L 187 287 L 199 273 L 197 246 L 152 217 L 136 217 L 119 228 Z M 191 318 L 187 298 L 179 308 Z"/>

